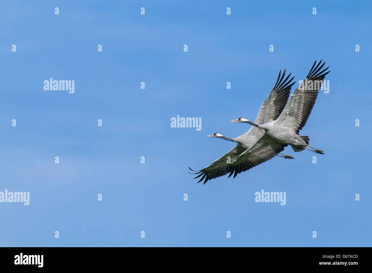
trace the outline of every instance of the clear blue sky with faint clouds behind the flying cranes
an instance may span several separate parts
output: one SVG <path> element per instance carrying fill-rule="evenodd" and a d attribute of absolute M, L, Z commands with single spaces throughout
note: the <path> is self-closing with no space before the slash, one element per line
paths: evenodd
<path fill-rule="evenodd" d="M 0 7 L 0 191 L 30 192 L 28 206 L 0 203 L 1 246 L 371 246 L 369 1 Z M 234 146 L 206 135 L 243 134 L 248 124 L 229 121 L 256 118 L 280 69 L 298 82 L 320 59 L 330 92 L 301 134 L 325 155 L 286 147 L 295 160 L 191 179 L 188 166 Z M 51 77 L 75 92 L 45 91 Z M 177 115 L 202 129 L 171 128 Z M 262 189 L 285 191 L 286 205 L 256 203 Z"/>

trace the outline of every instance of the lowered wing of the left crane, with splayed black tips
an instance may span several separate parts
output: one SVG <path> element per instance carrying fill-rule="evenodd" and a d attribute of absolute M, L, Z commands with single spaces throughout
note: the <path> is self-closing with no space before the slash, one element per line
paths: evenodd
<path fill-rule="evenodd" d="M 195 173 L 191 173 L 191 172 L 189 172 L 189 173 L 190 174 L 199 174 L 198 176 L 196 176 L 194 178 L 199 178 L 199 177 L 202 176 L 202 178 L 200 178 L 198 183 L 200 181 L 202 181 L 203 179 L 205 179 L 204 183 L 203 183 L 203 184 L 205 184 L 208 180 L 211 180 L 213 178 L 217 178 L 217 177 L 220 177 L 222 175 L 227 174 L 228 173 L 227 167 L 228 167 L 228 165 L 230 165 L 227 162 L 234 161 L 245 150 L 246 149 L 244 149 L 241 145 L 238 144 L 234 148 L 232 148 L 226 155 L 217 159 L 211 165 L 209 165 L 208 167 L 205 167 L 204 169 L 201 169 L 200 171 L 194 171 L 193 169 L 191 169 L 189 167 L 189 169 L 191 171 L 195 172 Z"/>

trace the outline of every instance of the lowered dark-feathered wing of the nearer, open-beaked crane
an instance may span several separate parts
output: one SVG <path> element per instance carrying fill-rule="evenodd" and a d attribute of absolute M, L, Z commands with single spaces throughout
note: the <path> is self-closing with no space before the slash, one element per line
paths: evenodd
<path fill-rule="evenodd" d="M 235 178 L 237 174 L 245 172 L 269 159 L 272 159 L 287 145 L 282 145 L 276 140 L 264 134 L 256 143 L 254 143 L 249 149 L 243 152 L 238 158 L 231 162 L 227 168 L 227 172 L 230 172 L 230 177 L 234 173 Z"/>

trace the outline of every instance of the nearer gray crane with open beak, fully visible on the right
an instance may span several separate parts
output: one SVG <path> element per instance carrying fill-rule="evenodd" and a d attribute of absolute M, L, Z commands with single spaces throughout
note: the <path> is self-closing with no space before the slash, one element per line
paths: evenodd
<path fill-rule="evenodd" d="M 257 124 L 241 117 L 231 121 L 248 123 L 253 125 L 253 127 L 263 129 L 264 135 L 249 149 L 239 155 L 235 161 L 231 162 L 227 167 L 227 171 L 230 172 L 228 177 L 234 173 L 235 178 L 240 172 L 247 171 L 273 158 L 287 145 L 291 145 L 295 152 L 307 149 L 315 153 L 324 154 L 322 150 L 315 149 L 309 145 L 310 139 L 308 136 L 299 135 L 299 130 L 305 126 L 315 104 L 324 77 L 330 72 L 326 72 L 329 67 L 320 71 L 325 63 L 319 66 L 322 62 L 320 61 L 315 66 L 316 62 L 312 65 L 304 82 L 292 93 L 288 103 L 276 120 Z"/>

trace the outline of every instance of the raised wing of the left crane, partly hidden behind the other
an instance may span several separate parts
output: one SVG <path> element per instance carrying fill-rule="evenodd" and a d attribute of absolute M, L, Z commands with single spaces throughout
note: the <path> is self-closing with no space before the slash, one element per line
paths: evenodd
<path fill-rule="evenodd" d="M 285 69 L 282 74 L 282 77 L 280 77 L 281 70 L 279 70 L 278 79 L 276 80 L 275 86 L 270 92 L 267 99 L 263 102 L 260 111 L 256 117 L 256 120 L 254 123 L 256 124 L 264 124 L 269 121 L 276 120 L 280 113 L 283 111 L 283 108 L 287 104 L 289 93 L 291 93 L 292 85 L 294 85 L 296 82 L 292 82 L 294 77 L 292 77 L 290 80 L 288 80 L 289 76 L 291 76 L 291 73 L 283 80 L 285 75 Z M 252 126 L 247 133 L 245 133 L 248 137 L 250 137 L 251 145 L 253 145 L 257 140 L 260 139 L 260 137 L 263 136 L 264 130 L 257 128 L 255 126 Z"/>

